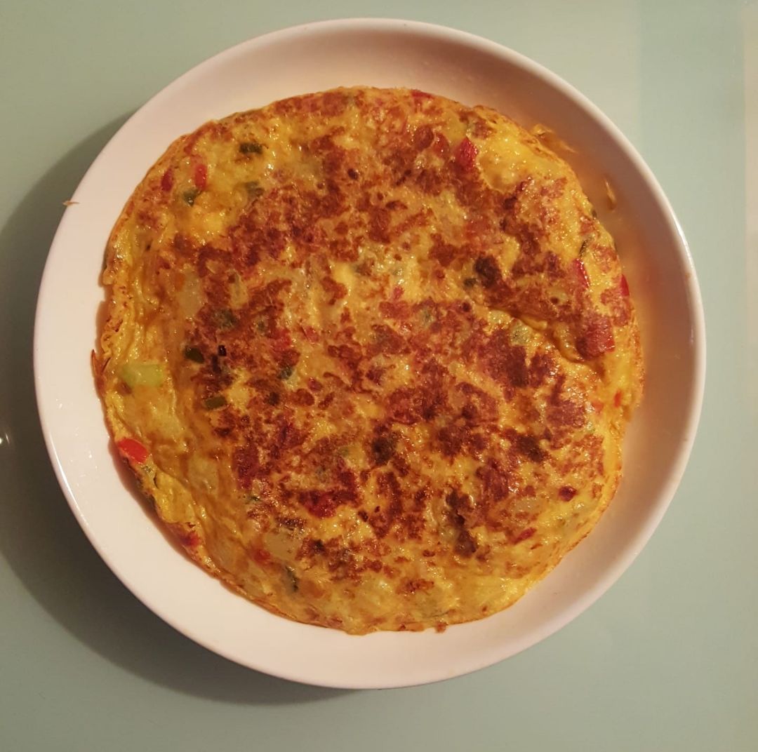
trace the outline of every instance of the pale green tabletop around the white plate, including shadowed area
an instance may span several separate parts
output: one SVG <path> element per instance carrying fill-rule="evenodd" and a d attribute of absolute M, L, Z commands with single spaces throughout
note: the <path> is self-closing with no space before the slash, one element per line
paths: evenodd
<path fill-rule="evenodd" d="M 678 212 L 709 342 L 684 482 L 597 604 L 471 676 L 348 692 L 228 663 L 125 590 L 55 482 L 30 356 L 61 201 L 124 119 L 236 42 L 359 15 L 488 36 L 606 111 Z M 758 749 L 758 5 L 3 0 L 0 70 L 0 750 Z"/>

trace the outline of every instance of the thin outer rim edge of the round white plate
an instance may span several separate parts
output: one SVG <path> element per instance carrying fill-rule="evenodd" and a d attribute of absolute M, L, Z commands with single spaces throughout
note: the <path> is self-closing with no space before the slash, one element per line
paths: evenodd
<path fill-rule="evenodd" d="M 271 674 L 272 676 L 278 676 L 282 679 L 289 679 L 296 682 L 304 682 L 324 687 L 390 688 L 436 682 L 442 679 L 450 678 L 451 676 L 463 676 L 466 673 L 482 669 L 485 666 L 493 665 L 493 663 L 498 663 L 501 660 L 505 660 L 508 657 L 512 657 L 513 655 L 518 654 L 518 652 L 521 652 L 526 648 L 537 644 L 537 642 L 542 641 L 544 638 L 547 638 L 554 632 L 562 629 L 563 626 L 571 623 L 573 619 L 575 619 L 579 614 L 583 613 L 584 610 L 590 607 L 591 604 L 597 601 L 597 599 L 600 598 L 610 588 L 610 586 L 616 582 L 617 579 L 619 579 L 622 573 L 628 569 L 628 566 L 631 566 L 631 563 L 633 563 L 634 559 L 637 557 L 637 554 L 640 553 L 642 548 L 644 548 L 644 545 L 647 544 L 647 541 L 653 535 L 653 532 L 662 519 L 662 516 L 666 513 L 666 510 L 675 495 L 675 491 L 678 488 L 679 482 L 681 481 L 681 477 L 684 474 L 685 466 L 687 465 L 692 447 L 694 445 L 695 435 L 697 432 L 697 424 L 699 422 L 700 413 L 702 410 L 706 376 L 706 329 L 703 300 L 700 294 L 700 287 L 697 283 L 697 273 L 695 271 L 691 250 L 684 236 L 684 232 L 681 228 L 680 223 L 678 222 L 677 217 L 675 216 L 675 212 L 673 211 L 668 198 L 662 191 L 661 186 L 659 186 L 656 177 L 653 175 L 650 168 L 641 158 L 640 154 L 638 154 L 634 146 L 631 145 L 631 142 L 629 142 L 626 136 L 624 136 L 621 130 L 615 126 L 614 123 L 612 123 L 612 120 L 610 120 L 609 117 L 607 117 L 606 114 L 604 114 L 603 111 L 597 107 L 597 105 L 594 105 L 594 103 L 590 101 L 586 96 L 584 96 L 584 94 L 579 92 L 578 89 L 575 89 L 574 86 L 563 80 L 556 73 L 553 73 L 547 67 L 543 67 L 541 64 L 537 63 L 531 58 L 522 55 L 522 53 L 515 51 L 505 45 L 500 45 L 497 42 L 493 42 L 490 39 L 485 39 L 484 37 L 477 36 L 469 32 L 456 30 L 451 27 L 440 26 L 434 23 L 390 18 L 340 18 L 334 20 L 323 20 L 314 23 L 302 23 L 296 26 L 274 30 L 260 36 L 252 37 L 251 39 L 247 39 L 246 41 L 240 42 L 236 45 L 219 51 L 215 55 L 211 55 L 204 61 L 201 61 L 193 67 L 189 68 L 186 73 L 181 74 L 166 86 L 159 89 L 158 92 L 152 95 L 152 97 L 150 97 L 142 106 L 140 106 L 121 125 L 114 136 L 108 140 L 108 143 L 99 152 L 95 160 L 92 161 L 92 164 L 86 170 L 86 173 L 84 173 L 82 179 L 80 180 L 80 183 L 77 186 L 76 191 L 74 192 L 74 195 L 72 196 L 72 200 L 75 201 L 77 199 L 77 195 L 86 189 L 86 183 L 88 182 L 89 176 L 91 176 L 93 173 L 96 173 L 98 164 L 101 161 L 104 161 L 107 158 L 108 154 L 110 154 L 111 149 L 114 148 L 114 144 L 117 144 L 117 140 L 120 134 L 125 129 L 133 128 L 135 126 L 135 123 L 139 123 L 139 120 L 141 120 L 143 117 L 146 117 L 146 111 L 149 110 L 149 108 L 156 100 L 160 100 L 168 92 L 184 86 L 188 81 L 191 81 L 199 73 L 199 71 L 205 70 L 212 64 L 221 64 L 224 61 L 234 58 L 236 55 L 244 55 L 250 50 L 250 48 L 253 48 L 255 46 L 263 46 L 272 42 L 282 42 L 287 38 L 290 38 L 290 40 L 296 39 L 298 36 L 305 33 L 322 33 L 324 31 L 340 30 L 343 31 L 346 29 L 352 30 L 356 26 L 363 27 L 363 29 L 372 31 L 374 33 L 422 33 L 424 36 L 433 36 L 434 38 L 445 42 L 455 42 L 456 44 L 465 43 L 467 46 L 484 49 L 485 51 L 496 55 L 498 58 L 505 58 L 506 61 L 508 61 L 510 64 L 515 64 L 517 67 L 526 70 L 528 73 L 531 73 L 532 75 L 540 78 L 540 80 L 543 80 L 546 83 L 550 84 L 550 86 L 552 86 L 554 89 L 558 89 L 562 95 L 572 100 L 575 105 L 589 114 L 592 119 L 597 120 L 612 136 L 615 144 L 618 145 L 618 147 L 624 152 L 625 157 L 628 158 L 632 164 L 634 164 L 637 173 L 639 173 L 641 178 L 644 179 L 644 183 L 650 190 L 656 203 L 663 210 L 666 222 L 669 224 L 669 229 L 672 231 L 672 235 L 678 238 L 678 251 L 681 255 L 681 261 L 687 270 L 686 288 L 690 298 L 689 309 L 694 328 L 694 371 L 692 374 L 691 382 L 693 395 L 691 401 L 689 402 L 689 409 L 686 417 L 686 435 L 676 454 L 676 461 L 672 464 L 671 469 L 669 470 L 665 491 L 659 495 L 658 502 L 653 507 L 651 507 L 652 513 L 647 517 L 647 523 L 633 539 L 633 544 L 628 546 L 628 551 L 625 551 L 622 556 L 618 557 L 617 560 L 615 560 L 613 563 L 613 566 L 609 566 L 605 569 L 605 571 L 603 571 L 602 575 L 597 581 L 597 584 L 585 592 L 581 598 L 575 599 L 572 607 L 567 610 L 568 613 L 565 613 L 563 615 L 565 618 L 554 619 L 553 621 L 546 623 L 540 632 L 531 633 L 527 638 L 523 639 L 522 644 L 515 651 L 509 651 L 507 654 L 504 654 L 501 657 L 494 658 L 494 660 L 490 654 L 483 654 L 480 656 L 480 660 L 469 661 L 468 668 L 465 670 L 456 671 L 453 674 L 449 674 L 449 672 L 446 671 L 445 666 L 440 666 L 437 672 L 427 672 L 427 675 L 421 678 L 412 678 L 407 682 L 397 682 L 393 679 L 390 679 L 386 682 L 381 682 L 377 681 L 375 678 L 369 682 L 331 682 L 328 678 L 318 679 L 313 676 L 303 676 L 303 672 L 293 672 L 292 670 L 277 670 L 271 666 L 264 667 L 260 664 L 253 665 L 249 662 L 249 660 L 240 659 L 239 655 L 235 654 L 233 651 L 225 649 L 223 644 L 212 644 L 212 641 L 209 641 L 204 636 L 197 634 L 191 626 L 188 627 L 186 624 L 176 623 L 176 621 L 171 618 L 170 613 L 165 613 L 166 609 L 164 609 L 160 603 L 156 604 L 153 598 L 149 596 L 146 597 L 144 593 L 139 591 L 139 588 L 136 588 L 133 582 L 130 582 L 127 576 L 124 576 L 123 573 L 121 573 L 117 563 L 111 560 L 108 551 L 103 550 L 95 532 L 92 530 L 89 521 L 87 520 L 86 513 L 81 510 L 79 504 L 77 503 L 76 495 L 70 487 L 70 483 L 67 479 L 66 473 L 64 472 L 63 463 L 61 462 L 61 458 L 58 456 L 58 448 L 55 443 L 55 437 L 53 435 L 54 432 L 49 425 L 49 417 L 45 413 L 44 409 L 45 383 L 43 378 L 44 374 L 42 373 L 42 355 L 39 348 L 38 333 L 42 329 L 42 323 L 44 322 L 45 316 L 47 315 L 44 301 L 45 298 L 49 296 L 49 292 L 47 291 L 52 285 L 50 279 L 52 273 L 50 270 L 52 269 L 52 261 L 56 257 L 55 249 L 57 246 L 61 245 L 60 239 L 64 238 L 68 232 L 68 226 L 70 222 L 73 221 L 74 214 L 70 211 L 70 207 L 64 211 L 64 214 L 61 217 L 61 222 L 59 223 L 58 229 L 56 230 L 55 236 L 52 240 L 49 256 L 45 261 L 45 268 L 42 273 L 42 281 L 39 287 L 34 323 L 33 367 L 37 413 L 39 416 L 40 425 L 42 427 L 42 434 L 45 439 L 45 446 L 51 459 L 52 466 L 55 470 L 55 475 L 58 479 L 58 483 L 61 486 L 61 490 L 64 492 L 67 503 L 73 511 L 77 522 L 80 524 L 80 527 L 83 529 L 83 532 L 85 532 L 86 537 L 89 539 L 90 544 L 92 544 L 93 548 L 96 549 L 99 556 L 106 563 L 108 568 L 111 569 L 115 576 L 117 576 L 122 584 L 124 584 L 127 589 L 133 595 L 135 595 L 136 598 L 139 599 L 139 601 L 142 601 L 144 604 L 146 604 L 146 606 L 148 606 L 156 616 L 164 620 L 164 622 L 171 625 L 174 629 L 177 629 L 177 632 L 186 635 L 187 637 L 193 639 L 193 641 L 196 641 L 198 644 L 201 644 L 203 647 L 206 647 L 216 654 L 220 654 L 228 660 L 232 660 L 235 663 L 240 663 L 243 666 L 248 666 L 249 668 L 263 671 Z M 456 629 L 456 627 L 453 626 L 450 629 Z M 367 636 L 370 637 L 371 635 Z"/>

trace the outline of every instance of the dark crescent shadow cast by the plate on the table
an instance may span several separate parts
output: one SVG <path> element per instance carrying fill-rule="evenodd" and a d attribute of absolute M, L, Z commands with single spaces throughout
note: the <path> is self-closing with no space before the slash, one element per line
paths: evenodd
<path fill-rule="evenodd" d="M 111 573 L 77 525 L 39 427 L 32 370 L 39 282 L 77 183 L 128 115 L 53 165 L 0 229 L 0 555 L 30 595 L 83 644 L 158 685 L 238 704 L 322 701 L 346 691 L 300 685 L 238 666 L 180 635 Z M 71 291 L 75 295 L 76 291 Z"/>

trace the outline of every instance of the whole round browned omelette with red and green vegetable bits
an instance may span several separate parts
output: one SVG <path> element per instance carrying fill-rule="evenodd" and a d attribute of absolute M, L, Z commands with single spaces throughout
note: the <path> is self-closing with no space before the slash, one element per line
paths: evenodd
<path fill-rule="evenodd" d="M 480 619 L 615 493 L 628 285 L 568 164 L 493 110 L 355 88 L 206 123 L 136 188 L 102 280 L 121 457 L 274 613 Z"/>

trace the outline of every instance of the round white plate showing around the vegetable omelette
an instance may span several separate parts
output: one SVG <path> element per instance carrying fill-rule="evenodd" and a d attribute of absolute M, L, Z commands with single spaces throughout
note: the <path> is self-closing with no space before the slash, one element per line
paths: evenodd
<path fill-rule="evenodd" d="M 334 86 L 409 86 L 552 126 L 599 208 L 604 179 L 641 314 L 647 394 L 625 447 L 625 479 L 600 526 L 522 601 L 443 634 L 351 637 L 272 616 L 190 563 L 135 501 L 111 454 L 89 353 L 108 233 L 177 136 L 214 117 Z M 703 392 L 704 334 L 691 257 L 666 198 L 615 126 L 553 73 L 493 42 L 393 20 L 309 24 L 252 39 L 186 73 L 140 109 L 86 173 L 53 242 L 37 308 L 36 391 L 55 472 L 89 540 L 158 616 L 245 666 L 333 687 L 432 682 L 488 666 L 581 613 L 631 563 L 684 471 Z M 654 448 L 654 451 L 653 451 Z"/>

